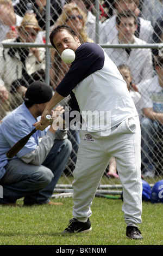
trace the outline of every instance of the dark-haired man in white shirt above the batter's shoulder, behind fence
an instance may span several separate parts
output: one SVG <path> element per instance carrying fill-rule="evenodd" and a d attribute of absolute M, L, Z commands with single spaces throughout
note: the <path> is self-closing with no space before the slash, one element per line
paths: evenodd
<path fill-rule="evenodd" d="M 127 11 L 116 17 L 116 27 L 118 34 L 108 44 L 134 44 L 134 45 L 146 45 L 147 43 L 137 37 L 134 33 L 136 31 L 136 18 L 135 15 Z M 152 51 L 146 48 L 107 48 L 105 52 L 111 58 L 111 60 L 120 66 L 126 64 L 130 67 L 133 75 L 133 82 L 137 85 L 141 81 L 152 78 L 153 76 L 153 63 L 152 63 Z"/>

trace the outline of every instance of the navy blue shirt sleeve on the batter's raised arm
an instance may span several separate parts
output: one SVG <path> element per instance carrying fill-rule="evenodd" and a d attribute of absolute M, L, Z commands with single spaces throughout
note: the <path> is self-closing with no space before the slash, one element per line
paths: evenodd
<path fill-rule="evenodd" d="M 83 43 L 75 53 L 76 58 L 56 88 L 56 91 L 63 97 L 69 94 L 73 97 L 73 88 L 90 74 L 102 69 L 104 65 L 104 52 L 98 44 Z"/>

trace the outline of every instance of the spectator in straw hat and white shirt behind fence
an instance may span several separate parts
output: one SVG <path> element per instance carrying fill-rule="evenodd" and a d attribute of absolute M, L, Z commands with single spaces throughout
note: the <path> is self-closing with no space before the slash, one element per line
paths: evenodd
<path fill-rule="evenodd" d="M 21 25 L 17 27 L 18 37 L 3 40 L 3 43 L 34 43 L 40 27 L 35 16 L 26 14 Z M 11 84 L 14 80 L 24 79 L 27 81 L 37 70 L 45 70 L 45 48 L 0 48 L 0 111 L 2 118 L 11 111 L 10 100 Z M 23 87 L 23 86 L 22 86 Z M 22 88 L 21 87 L 21 88 Z M 6 108 L 5 108 L 6 106 Z M 5 109 L 5 111 L 3 110 Z M 4 112 L 2 115 L 2 111 Z"/>

